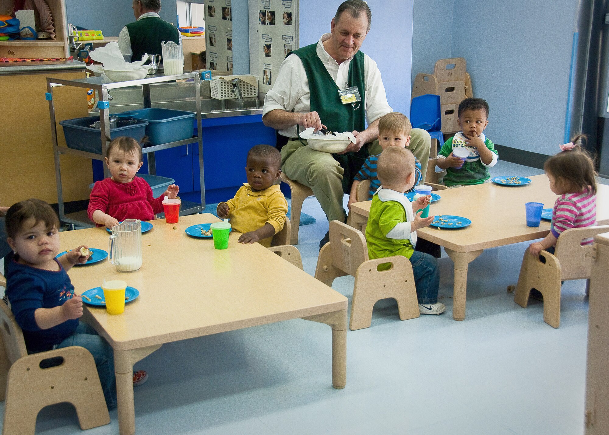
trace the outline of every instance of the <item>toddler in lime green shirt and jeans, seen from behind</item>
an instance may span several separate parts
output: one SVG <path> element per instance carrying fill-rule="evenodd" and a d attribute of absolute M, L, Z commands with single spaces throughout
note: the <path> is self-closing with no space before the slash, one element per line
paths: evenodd
<path fill-rule="evenodd" d="M 417 229 L 431 224 L 433 216 L 421 218 L 431 196 L 420 197 L 412 203 L 404 192 L 415 182 L 415 157 L 407 149 L 389 147 L 384 149 L 376 166 L 381 187 L 372 197 L 366 241 L 368 257 L 385 258 L 403 255 L 412 264 L 415 277 L 419 312 L 442 314 L 446 306 L 438 302 L 440 271 L 437 260 L 428 253 L 415 251 Z"/>

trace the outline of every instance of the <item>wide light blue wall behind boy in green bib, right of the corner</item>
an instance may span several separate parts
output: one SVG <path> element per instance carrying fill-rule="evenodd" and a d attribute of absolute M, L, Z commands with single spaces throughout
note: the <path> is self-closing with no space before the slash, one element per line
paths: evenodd
<path fill-rule="evenodd" d="M 454 0 L 452 57 L 490 105 L 493 142 L 547 155 L 563 143 L 576 3 Z"/>

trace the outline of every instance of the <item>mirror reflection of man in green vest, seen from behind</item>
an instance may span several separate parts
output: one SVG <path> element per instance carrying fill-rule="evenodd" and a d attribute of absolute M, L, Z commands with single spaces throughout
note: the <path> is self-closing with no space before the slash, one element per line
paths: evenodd
<path fill-rule="evenodd" d="M 118 46 L 127 62 L 140 60 L 144 53 L 161 54 L 161 42 L 181 44 L 178 29 L 161 19 L 161 0 L 133 0 L 133 15 L 137 21 L 123 27 Z"/>

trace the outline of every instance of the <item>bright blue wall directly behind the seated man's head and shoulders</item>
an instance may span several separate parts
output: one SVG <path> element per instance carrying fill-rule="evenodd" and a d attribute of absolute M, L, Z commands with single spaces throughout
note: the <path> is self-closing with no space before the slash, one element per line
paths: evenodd
<path fill-rule="evenodd" d="M 395 111 L 410 114 L 412 68 L 412 11 L 414 0 L 370 0 L 372 26 L 361 50 L 378 64 Z M 342 1 L 300 1 L 300 46 L 315 43 L 330 31 L 330 21 Z"/>

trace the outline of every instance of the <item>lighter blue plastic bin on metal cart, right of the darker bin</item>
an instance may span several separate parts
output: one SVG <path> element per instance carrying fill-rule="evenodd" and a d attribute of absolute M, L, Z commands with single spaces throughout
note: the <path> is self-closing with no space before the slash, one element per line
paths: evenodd
<path fill-rule="evenodd" d="M 164 108 L 134 110 L 134 119 L 147 121 L 146 135 L 153 145 L 181 141 L 192 137 L 194 111 Z"/>

